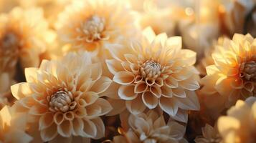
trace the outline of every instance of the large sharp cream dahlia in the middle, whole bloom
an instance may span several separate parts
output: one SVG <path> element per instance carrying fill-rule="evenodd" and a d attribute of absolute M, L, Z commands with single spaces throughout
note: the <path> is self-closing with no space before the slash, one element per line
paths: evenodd
<path fill-rule="evenodd" d="M 113 59 L 106 63 L 115 84 L 108 97 L 125 102 L 132 114 L 159 106 L 174 119 L 186 122 L 186 111 L 199 109 L 194 92 L 199 89 L 199 73 L 193 66 L 196 54 L 181 49 L 181 37 L 156 36 L 147 28 L 141 41 L 117 44 L 109 51 Z"/>

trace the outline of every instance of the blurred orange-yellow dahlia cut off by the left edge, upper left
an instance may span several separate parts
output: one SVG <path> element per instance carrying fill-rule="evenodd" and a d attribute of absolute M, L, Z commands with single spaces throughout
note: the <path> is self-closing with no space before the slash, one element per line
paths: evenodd
<path fill-rule="evenodd" d="M 0 73 L 13 78 L 18 67 L 39 66 L 40 54 L 51 42 L 42 9 L 16 7 L 0 15 Z"/>

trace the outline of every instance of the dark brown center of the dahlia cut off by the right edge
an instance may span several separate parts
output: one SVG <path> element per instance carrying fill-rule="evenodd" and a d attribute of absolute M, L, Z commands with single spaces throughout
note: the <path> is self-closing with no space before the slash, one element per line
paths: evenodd
<path fill-rule="evenodd" d="M 240 66 L 240 77 L 247 81 L 256 82 L 256 62 L 249 61 L 247 63 L 242 63 Z"/>

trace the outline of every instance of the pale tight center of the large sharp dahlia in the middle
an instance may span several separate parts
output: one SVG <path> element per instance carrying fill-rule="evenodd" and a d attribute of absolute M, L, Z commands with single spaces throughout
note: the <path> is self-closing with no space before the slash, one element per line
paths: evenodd
<path fill-rule="evenodd" d="M 141 75 L 143 77 L 156 78 L 161 74 L 161 65 L 153 60 L 148 60 L 141 66 Z"/>

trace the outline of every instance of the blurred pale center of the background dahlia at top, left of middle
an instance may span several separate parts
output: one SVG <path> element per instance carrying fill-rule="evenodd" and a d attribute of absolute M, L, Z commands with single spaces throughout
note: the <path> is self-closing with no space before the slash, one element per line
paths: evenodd
<path fill-rule="evenodd" d="M 86 35 L 85 40 L 88 43 L 97 40 L 107 40 L 108 36 L 104 36 L 103 31 L 105 29 L 105 19 L 99 16 L 92 16 L 82 24 L 82 31 Z"/>

